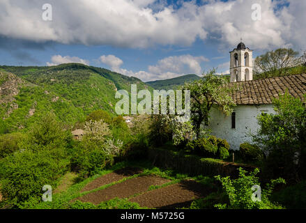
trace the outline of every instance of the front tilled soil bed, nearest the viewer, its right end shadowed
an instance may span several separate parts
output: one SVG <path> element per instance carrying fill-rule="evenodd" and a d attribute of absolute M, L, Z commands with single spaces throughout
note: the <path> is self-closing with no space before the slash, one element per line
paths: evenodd
<path fill-rule="evenodd" d="M 148 208 L 183 208 L 190 206 L 194 199 L 206 197 L 214 190 L 194 180 L 183 180 L 181 183 L 151 190 L 130 201 Z"/>

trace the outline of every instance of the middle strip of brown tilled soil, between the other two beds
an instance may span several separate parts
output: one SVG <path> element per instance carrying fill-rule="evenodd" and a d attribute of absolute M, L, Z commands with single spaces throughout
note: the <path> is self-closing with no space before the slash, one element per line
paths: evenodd
<path fill-rule="evenodd" d="M 97 192 L 92 192 L 85 194 L 82 197 L 77 198 L 77 200 L 82 202 L 91 202 L 95 205 L 108 201 L 110 199 L 118 198 L 128 198 L 132 195 L 146 192 L 148 187 L 151 185 L 163 185 L 168 183 L 170 180 L 165 178 L 160 178 L 158 176 L 139 176 L 137 178 L 131 178 L 105 188 L 104 190 L 98 190 Z"/>

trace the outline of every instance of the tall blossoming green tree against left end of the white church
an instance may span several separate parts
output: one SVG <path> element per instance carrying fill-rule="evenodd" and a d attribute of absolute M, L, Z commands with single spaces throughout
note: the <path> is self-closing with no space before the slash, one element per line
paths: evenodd
<path fill-rule="evenodd" d="M 227 115 L 233 112 L 235 103 L 230 93 L 235 87 L 230 87 L 226 79 L 215 75 L 215 69 L 197 81 L 185 83 L 182 89 L 190 90 L 191 120 L 197 137 L 201 137 L 201 124 L 208 125 L 212 107 Z"/>

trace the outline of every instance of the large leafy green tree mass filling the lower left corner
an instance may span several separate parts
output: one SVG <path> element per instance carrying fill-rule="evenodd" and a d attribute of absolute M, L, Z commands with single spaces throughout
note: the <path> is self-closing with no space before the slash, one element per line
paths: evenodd
<path fill-rule="evenodd" d="M 55 137 L 54 137 L 55 136 Z M 62 130 L 54 114 L 33 125 L 19 150 L 1 160 L 1 194 L 9 206 L 26 208 L 41 201 L 43 185 L 56 186 L 67 170 L 71 134 Z"/>

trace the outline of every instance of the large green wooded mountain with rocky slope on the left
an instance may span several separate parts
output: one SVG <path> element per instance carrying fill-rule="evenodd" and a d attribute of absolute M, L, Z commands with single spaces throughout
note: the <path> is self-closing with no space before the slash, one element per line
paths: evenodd
<path fill-rule="evenodd" d="M 0 134 L 27 129 L 53 111 L 71 128 L 95 110 L 115 116 L 116 91 L 151 86 L 104 68 L 67 63 L 51 67 L 0 66 Z"/>

